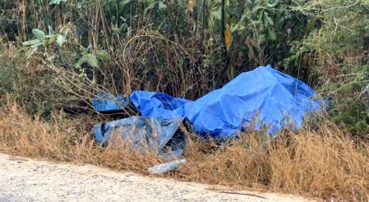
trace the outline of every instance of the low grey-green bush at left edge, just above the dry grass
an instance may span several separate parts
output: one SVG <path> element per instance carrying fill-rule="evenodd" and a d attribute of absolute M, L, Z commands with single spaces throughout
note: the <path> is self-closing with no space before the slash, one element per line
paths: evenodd
<path fill-rule="evenodd" d="M 1 45 L 1 44 L 0 44 Z M 1 49 L 3 50 L 4 49 Z M 55 74 L 42 66 L 31 67 L 34 61 L 25 68 L 23 50 L 11 58 L 11 55 L 0 55 L 0 106 L 6 105 L 8 99 L 22 105 L 28 113 L 50 118 L 55 109 L 76 107 L 79 99 L 60 87 L 55 82 Z M 15 65 L 15 64 L 19 64 Z M 34 69 L 27 71 L 27 69 Z"/>

